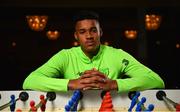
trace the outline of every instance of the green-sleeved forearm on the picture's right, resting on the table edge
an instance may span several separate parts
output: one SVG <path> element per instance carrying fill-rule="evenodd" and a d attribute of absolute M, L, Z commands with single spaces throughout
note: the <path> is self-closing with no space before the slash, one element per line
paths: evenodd
<path fill-rule="evenodd" d="M 141 91 L 153 88 L 164 88 L 163 80 L 156 74 L 148 74 L 140 77 L 117 79 L 118 91 Z"/>

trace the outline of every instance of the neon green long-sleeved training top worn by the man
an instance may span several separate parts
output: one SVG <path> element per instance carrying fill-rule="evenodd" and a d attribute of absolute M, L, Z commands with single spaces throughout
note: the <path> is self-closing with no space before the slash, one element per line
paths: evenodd
<path fill-rule="evenodd" d="M 70 79 L 76 79 L 81 72 L 92 68 L 116 80 L 118 92 L 164 88 L 164 82 L 159 75 L 130 54 L 122 49 L 101 45 L 98 54 L 92 59 L 80 47 L 59 51 L 25 79 L 23 89 L 68 91 Z M 123 75 L 130 78 L 121 79 Z"/>

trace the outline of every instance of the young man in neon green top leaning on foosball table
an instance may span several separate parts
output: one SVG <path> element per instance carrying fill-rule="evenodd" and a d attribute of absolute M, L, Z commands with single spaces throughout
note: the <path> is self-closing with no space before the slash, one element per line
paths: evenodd
<path fill-rule="evenodd" d="M 41 91 L 117 90 L 118 92 L 164 88 L 164 82 L 122 49 L 101 45 L 98 15 L 76 15 L 74 37 L 79 47 L 63 49 L 24 81 L 23 89 Z M 123 75 L 129 78 L 121 79 Z"/>

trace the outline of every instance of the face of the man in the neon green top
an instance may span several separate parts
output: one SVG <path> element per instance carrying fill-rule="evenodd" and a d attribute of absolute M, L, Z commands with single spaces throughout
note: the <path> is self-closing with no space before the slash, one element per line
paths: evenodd
<path fill-rule="evenodd" d="M 78 21 L 74 36 L 85 53 L 96 52 L 100 45 L 101 36 L 99 23 L 94 19 Z"/>

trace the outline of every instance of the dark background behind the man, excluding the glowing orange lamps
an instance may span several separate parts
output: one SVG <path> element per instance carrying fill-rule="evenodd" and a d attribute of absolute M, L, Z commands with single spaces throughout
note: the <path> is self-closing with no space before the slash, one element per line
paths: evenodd
<path fill-rule="evenodd" d="M 129 52 L 157 72 L 167 89 L 180 88 L 180 48 L 176 48 L 180 44 L 178 0 L 1 0 L 0 89 L 22 89 L 30 72 L 59 50 L 72 47 L 72 16 L 81 9 L 99 13 L 102 43 L 108 41 L 111 46 Z M 144 27 L 144 15 L 151 13 L 162 16 L 160 28 L 154 31 Z M 26 16 L 32 14 L 49 16 L 45 30 L 36 32 L 29 28 Z M 49 40 L 45 34 L 49 29 L 58 29 L 60 37 Z M 126 29 L 138 30 L 138 37 L 125 38 Z"/>

